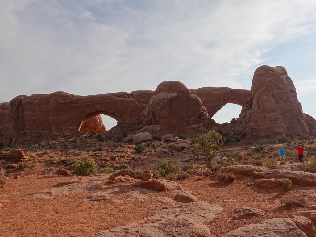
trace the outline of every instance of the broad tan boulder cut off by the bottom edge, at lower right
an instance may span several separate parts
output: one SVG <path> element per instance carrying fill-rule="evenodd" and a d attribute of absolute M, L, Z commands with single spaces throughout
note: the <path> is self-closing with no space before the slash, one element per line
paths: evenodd
<path fill-rule="evenodd" d="M 222 237 L 308 237 L 290 218 L 274 218 L 240 227 Z"/>

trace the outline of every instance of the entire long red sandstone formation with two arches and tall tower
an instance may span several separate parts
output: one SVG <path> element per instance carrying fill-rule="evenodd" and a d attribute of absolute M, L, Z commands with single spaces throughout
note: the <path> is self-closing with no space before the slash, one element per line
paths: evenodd
<path fill-rule="evenodd" d="M 212 116 L 227 103 L 243 105 L 238 119 L 223 125 Z M 100 114 L 118 121 L 106 131 Z M 66 92 L 19 95 L 0 103 L 0 143 L 19 145 L 89 133 L 132 138 L 149 132 L 161 139 L 196 136 L 221 129 L 246 139 L 315 135 L 316 120 L 304 114 L 294 84 L 283 67 L 261 66 L 252 88 L 205 87 L 189 90 L 178 81 L 161 82 L 155 91 L 79 96 Z"/>

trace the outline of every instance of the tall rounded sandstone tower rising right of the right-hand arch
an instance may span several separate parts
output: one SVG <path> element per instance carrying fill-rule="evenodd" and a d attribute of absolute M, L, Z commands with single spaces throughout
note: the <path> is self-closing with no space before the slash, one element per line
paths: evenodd
<path fill-rule="evenodd" d="M 253 75 L 251 98 L 230 133 L 254 140 L 275 139 L 282 134 L 313 134 L 315 124 L 315 119 L 303 113 L 285 68 L 261 66 Z"/>

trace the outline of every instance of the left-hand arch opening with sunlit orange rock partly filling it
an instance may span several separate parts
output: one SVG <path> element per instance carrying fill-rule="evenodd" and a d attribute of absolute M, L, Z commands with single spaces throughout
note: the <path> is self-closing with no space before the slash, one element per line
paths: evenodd
<path fill-rule="evenodd" d="M 117 120 L 111 116 L 105 115 L 101 112 L 95 112 L 84 117 L 79 124 L 78 131 L 83 135 L 95 135 L 105 133 L 116 126 Z"/>

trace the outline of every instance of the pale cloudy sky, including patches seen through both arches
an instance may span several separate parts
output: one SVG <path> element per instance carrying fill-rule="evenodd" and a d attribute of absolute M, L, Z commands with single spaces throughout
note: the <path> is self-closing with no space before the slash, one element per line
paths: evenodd
<path fill-rule="evenodd" d="M 260 65 L 284 66 L 316 118 L 314 0 L 0 0 L 0 102 L 20 94 L 89 95 L 250 89 Z M 213 118 L 237 118 L 227 104 Z M 103 116 L 111 128 L 116 121 Z"/>

